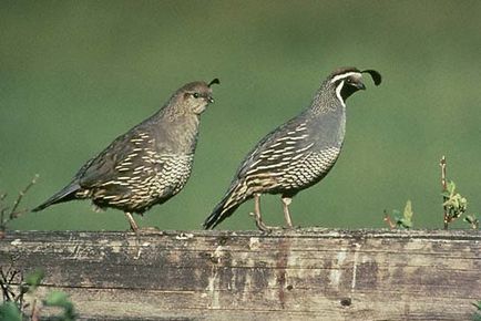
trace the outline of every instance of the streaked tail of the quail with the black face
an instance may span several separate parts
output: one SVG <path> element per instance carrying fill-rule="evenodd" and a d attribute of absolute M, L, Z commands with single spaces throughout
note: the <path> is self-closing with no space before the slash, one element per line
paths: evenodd
<path fill-rule="evenodd" d="M 246 186 L 234 185 L 226 193 L 224 198 L 217 204 L 212 214 L 205 219 L 203 226 L 205 229 L 213 229 L 218 224 L 221 224 L 224 219 L 233 215 L 233 213 L 240 206 L 244 201 L 246 201 L 249 196 L 246 194 Z"/>

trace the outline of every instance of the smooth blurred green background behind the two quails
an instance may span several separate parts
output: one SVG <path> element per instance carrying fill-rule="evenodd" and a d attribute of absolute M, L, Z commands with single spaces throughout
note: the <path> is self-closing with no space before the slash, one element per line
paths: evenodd
<path fill-rule="evenodd" d="M 33 207 L 90 157 L 194 80 L 211 81 L 185 189 L 141 226 L 197 229 L 245 154 L 298 114 L 344 65 L 385 82 L 348 101 L 344 152 L 293 203 L 300 226 L 386 227 L 383 209 L 411 199 L 416 227 L 442 226 L 439 158 L 481 211 L 481 1 L 6 1 L 0 2 L 0 190 L 33 177 Z M 253 203 L 221 229 L 253 229 Z M 283 224 L 265 196 L 268 224 Z M 462 222 L 457 227 L 464 227 Z M 465 226 L 468 227 L 468 226 Z M 113 229 L 117 210 L 72 201 L 14 229 Z"/>

